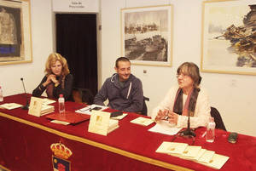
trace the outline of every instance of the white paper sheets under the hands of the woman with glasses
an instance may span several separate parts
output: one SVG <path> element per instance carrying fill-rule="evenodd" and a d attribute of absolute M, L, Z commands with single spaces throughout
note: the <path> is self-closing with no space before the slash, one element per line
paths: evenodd
<path fill-rule="evenodd" d="M 167 121 L 162 121 L 160 123 L 157 123 L 155 124 L 154 127 L 148 129 L 148 131 L 151 131 L 154 133 L 169 134 L 169 135 L 177 134 L 177 132 L 180 130 L 181 128 L 170 127 Z"/>

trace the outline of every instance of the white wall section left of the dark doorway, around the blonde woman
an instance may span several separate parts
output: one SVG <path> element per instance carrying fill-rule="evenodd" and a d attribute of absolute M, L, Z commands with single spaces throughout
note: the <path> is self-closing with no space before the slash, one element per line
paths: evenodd
<path fill-rule="evenodd" d="M 24 93 L 20 77 L 27 93 L 44 77 L 44 64 L 53 49 L 51 17 L 51 0 L 31 0 L 32 63 L 0 66 L 4 96 Z"/>

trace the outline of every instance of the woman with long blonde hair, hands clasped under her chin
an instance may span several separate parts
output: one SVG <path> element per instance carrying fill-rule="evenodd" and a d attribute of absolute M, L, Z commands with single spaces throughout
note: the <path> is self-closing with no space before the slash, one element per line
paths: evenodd
<path fill-rule="evenodd" d="M 46 90 L 49 98 L 58 99 L 63 94 L 65 100 L 71 99 L 73 75 L 68 69 L 67 60 L 61 54 L 52 53 L 45 64 L 45 76 L 32 92 L 32 96 L 41 96 Z"/>

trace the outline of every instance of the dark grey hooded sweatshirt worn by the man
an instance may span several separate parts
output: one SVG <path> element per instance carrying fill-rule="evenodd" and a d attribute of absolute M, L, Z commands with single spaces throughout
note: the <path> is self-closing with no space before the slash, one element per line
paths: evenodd
<path fill-rule="evenodd" d="M 104 105 L 108 99 L 108 106 L 119 111 L 138 112 L 143 110 L 143 84 L 141 80 L 132 74 L 121 86 L 119 75 L 108 77 L 100 91 L 94 98 L 96 105 Z"/>

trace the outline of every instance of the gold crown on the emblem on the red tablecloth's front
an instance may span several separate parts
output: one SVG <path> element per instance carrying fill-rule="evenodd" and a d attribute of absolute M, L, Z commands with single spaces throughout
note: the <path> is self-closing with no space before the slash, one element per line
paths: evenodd
<path fill-rule="evenodd" d="M 54 152 L 55 156 L 62 157 L 67 159 L 72 155 L 72 151 L 70 151 L 65 145 L 61 143 L 55 143 L 50 145 L 51 151 Z"/>

